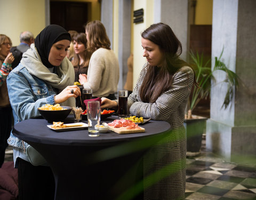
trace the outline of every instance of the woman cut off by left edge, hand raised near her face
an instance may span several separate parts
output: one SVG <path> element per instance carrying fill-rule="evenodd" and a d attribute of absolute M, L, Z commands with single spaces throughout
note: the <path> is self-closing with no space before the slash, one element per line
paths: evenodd
<path fill-rule="evenodd" d="M 12 129 L 12 108 L 10 105 L 6 77 L 12 70 L 14 57 L 10 53 L 12 41 L 10 37 L 0 34 L 0 167 L 4 163 L 7 139 Z"/>

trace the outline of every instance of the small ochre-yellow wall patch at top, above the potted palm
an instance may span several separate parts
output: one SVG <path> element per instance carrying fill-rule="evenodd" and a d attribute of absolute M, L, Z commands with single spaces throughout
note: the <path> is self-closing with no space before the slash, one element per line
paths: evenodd
<path fill-rule="evenodd" d="M 212 25 L 213 0 L 197 0 L 195 25 Z"/>

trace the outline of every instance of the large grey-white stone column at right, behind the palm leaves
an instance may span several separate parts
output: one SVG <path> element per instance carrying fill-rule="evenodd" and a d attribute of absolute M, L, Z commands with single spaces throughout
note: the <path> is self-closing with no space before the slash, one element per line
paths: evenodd
<path fill-rule="evenodd" d="M 219 57 L 224 47 L 221 61 L 242 82 L 231 105 L 224 109 L 221 106 L 227 85 L 221 82 L 225 76 L 223 73 L 214 74 L 217 84 L 213 84 L 211 90 L 206 149 L 225 156 L 229 161 L 246 162 L 249 157 L 256 159 L 255 7 L 254 0 L 213 1 L 212 59 Z"/>

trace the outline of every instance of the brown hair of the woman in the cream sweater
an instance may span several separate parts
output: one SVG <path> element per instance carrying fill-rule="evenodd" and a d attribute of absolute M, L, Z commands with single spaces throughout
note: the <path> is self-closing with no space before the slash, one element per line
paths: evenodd
<path fill-rule="evenodd" d="M 110 50 L 110 40 L 107 36 L 104 25 L 98 21 L 90 21 L 86 24 L 85 30 L 89 34 L 89 40 L 87 41 L 87 49 L 90 52 L 94 52 L 100 47 Z"/>

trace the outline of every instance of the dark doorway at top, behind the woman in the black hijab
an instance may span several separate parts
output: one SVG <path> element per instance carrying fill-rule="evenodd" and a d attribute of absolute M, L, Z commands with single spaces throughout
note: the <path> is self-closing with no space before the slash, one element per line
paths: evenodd
<path fill-rule="evenodd" d="M 90 2 L 50 2 L 51 24 L 60 25 L 66 30 L 84 32 L 88 21 Z"/>

